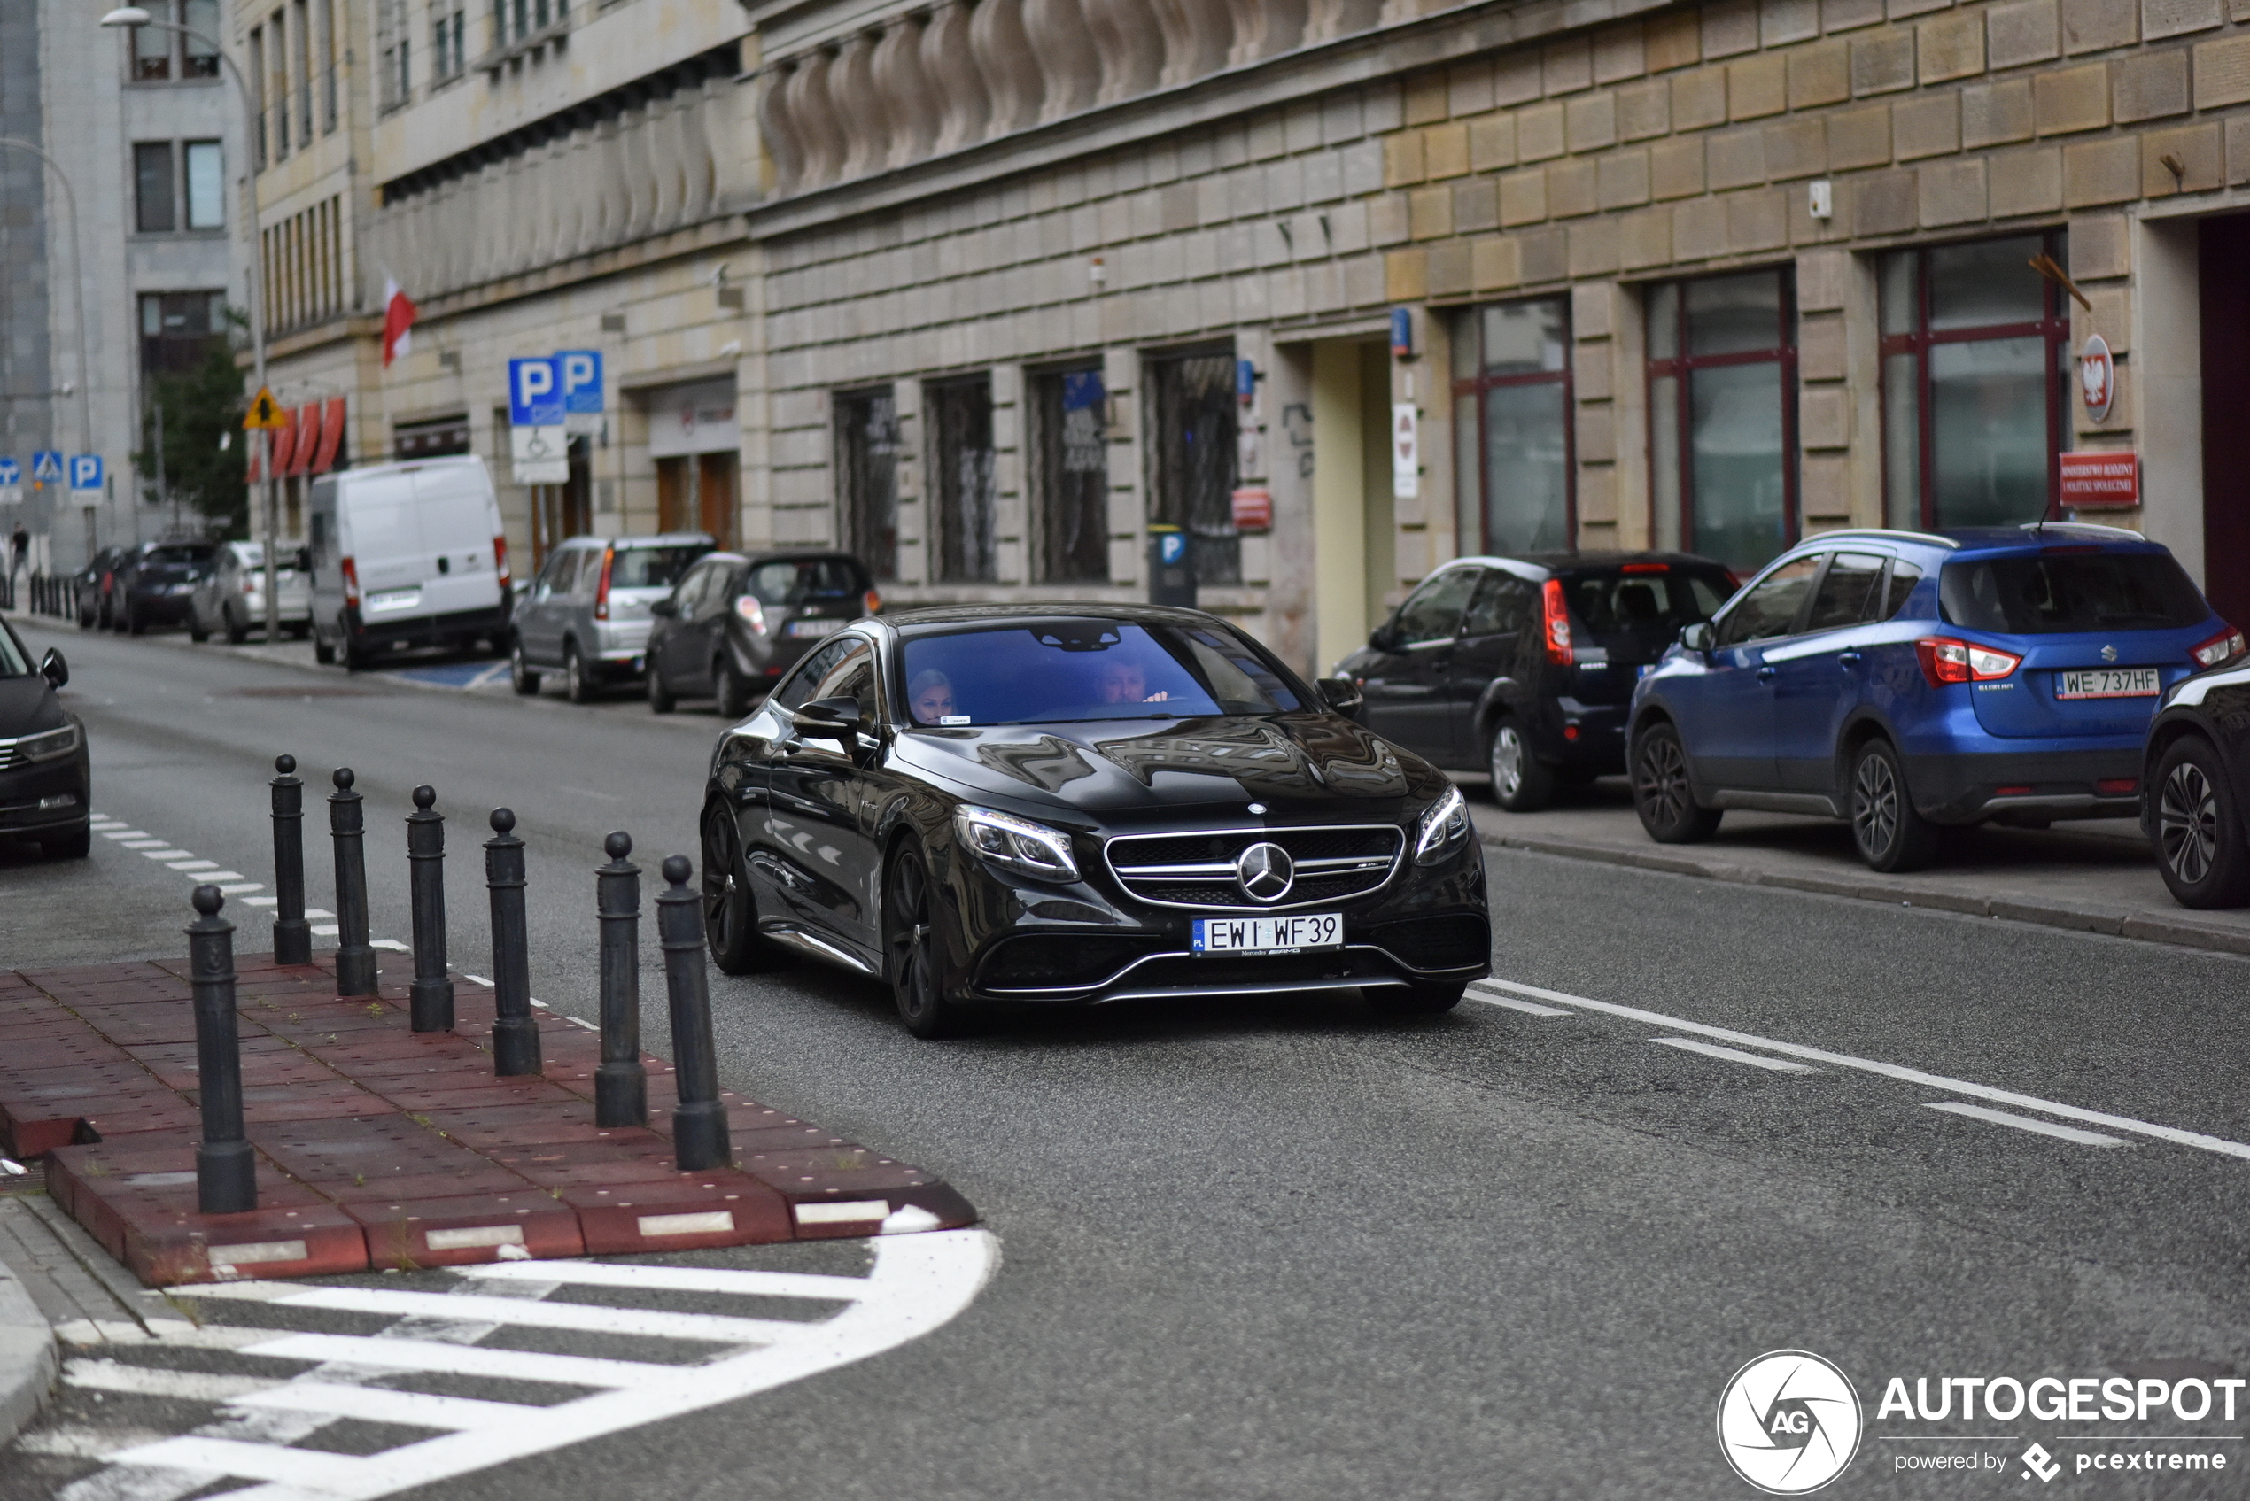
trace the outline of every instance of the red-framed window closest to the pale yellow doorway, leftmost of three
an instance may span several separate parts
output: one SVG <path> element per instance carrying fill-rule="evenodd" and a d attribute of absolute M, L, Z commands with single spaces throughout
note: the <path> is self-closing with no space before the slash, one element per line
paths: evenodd
<path fill-rule="evenodd" d="M 1566 551 L 1570 491 L 1570 304 L 1469 308 L 1454 329 L 1454 484 L 1465 549 Z"/>

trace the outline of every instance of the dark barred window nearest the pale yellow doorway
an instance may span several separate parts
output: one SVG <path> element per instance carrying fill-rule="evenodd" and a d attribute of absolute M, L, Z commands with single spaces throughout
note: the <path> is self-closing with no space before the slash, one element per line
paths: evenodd
<path fill-rule="evenodd" d="M 1235 407 L 1233 351 L 1150 360 L 1150 520 L 1188 533 L 1199 585 L 1242 583 Z"/>

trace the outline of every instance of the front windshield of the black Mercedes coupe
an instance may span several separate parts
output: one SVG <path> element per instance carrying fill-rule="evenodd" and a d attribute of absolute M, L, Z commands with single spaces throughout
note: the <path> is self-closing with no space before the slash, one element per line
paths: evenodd
<path fill-rule="evenodd" d="M 916 725 L 1058 725 L 1287 713 L 1298 691 L 1220 626 L 1060 617 L 907 639 Z"/>

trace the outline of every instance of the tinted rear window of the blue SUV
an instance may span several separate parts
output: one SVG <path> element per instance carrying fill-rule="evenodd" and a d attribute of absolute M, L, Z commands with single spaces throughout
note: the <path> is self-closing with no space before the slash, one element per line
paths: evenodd
<path fill-rule="evenodd" d="M 2018 637 L 2182 630 L 2212 614 L 2171 554 L 2090 547 L 1946 563 L 1937 601 L 1955 626 Z"/>

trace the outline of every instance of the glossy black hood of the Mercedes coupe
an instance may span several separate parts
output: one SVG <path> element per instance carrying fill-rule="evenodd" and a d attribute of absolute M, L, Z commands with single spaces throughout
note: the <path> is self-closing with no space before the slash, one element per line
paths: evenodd
<path fill-rule="evenodd" d="M 1422 758 L 1334 713 L 914 729 L 893 756 L 994 799 L 1089 815 L 1260 801 L 1274 815 L 1372 817 L 1444 790 Z"/>

